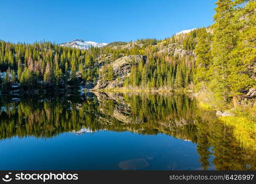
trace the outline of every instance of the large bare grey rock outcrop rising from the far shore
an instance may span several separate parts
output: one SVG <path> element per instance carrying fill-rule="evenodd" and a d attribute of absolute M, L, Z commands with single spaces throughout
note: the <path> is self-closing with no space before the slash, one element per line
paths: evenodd
<path fill-rule="evenodd" d="M 130 69 L 132 65 L 137 65 L 140 61 L 143 63 L 146 61 L 146 56 L 142 55 L 130 55 L 123 56 L 122 58 L 116 59 L 114 62 L 110 63 L 113 67 L 113 81 L 100 79 L 93 90 L 100 89 L 111 89 L 120 88 L 124 83 L 124 78 L 130 75 Z"/>

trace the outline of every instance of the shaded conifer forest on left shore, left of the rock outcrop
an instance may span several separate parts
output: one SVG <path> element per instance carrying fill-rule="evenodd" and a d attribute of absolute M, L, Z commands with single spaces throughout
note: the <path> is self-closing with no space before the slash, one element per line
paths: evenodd
<path fill-rule="evenodd" d="M 78 50 L 50 42 L 0 42 L 1 86 L 20 83 L 23 89 L 76 85 L 78 79 L 95 80 L 97 48 Z"/>

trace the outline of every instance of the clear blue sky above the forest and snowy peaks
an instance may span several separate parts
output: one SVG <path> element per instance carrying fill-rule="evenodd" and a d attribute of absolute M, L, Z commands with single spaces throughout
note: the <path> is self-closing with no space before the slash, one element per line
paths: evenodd
<path fill-rule="evenodd" d="M 213 23 L 217 0 L 1 1 L 0 39 L 31 43 L 73 39 L 164 39 Z"/>

